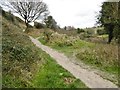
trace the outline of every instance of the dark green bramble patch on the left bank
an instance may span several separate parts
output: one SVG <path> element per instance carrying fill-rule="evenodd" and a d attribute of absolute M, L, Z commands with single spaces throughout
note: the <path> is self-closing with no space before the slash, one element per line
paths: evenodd
<path fill-rule="evenodd" d="M 21 44 L 16 45 L 17 44 L 16 42 L 9 41 L 4 38 L 3 40 L 4 40 L 2 45 L 3 54 L 9 53 L 11 60 L 19 60 L 19 61 L 23 61 L 24 59 L 26 60 L 28 58 L 27 56 L 30 55 L 30 52 L 32 52 L 29 46 L 24 46 Z M 29 57 L 31 57 L 31 55 Z"/>

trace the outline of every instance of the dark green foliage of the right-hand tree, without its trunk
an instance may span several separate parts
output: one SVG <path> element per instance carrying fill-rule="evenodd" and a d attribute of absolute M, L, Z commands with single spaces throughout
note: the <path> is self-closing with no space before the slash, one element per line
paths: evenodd
<path fill-rule="evenodd" d="M 118 2 L 104 2 L 100 17 L 98 18 L 102 25 L 118 23 Z"/>

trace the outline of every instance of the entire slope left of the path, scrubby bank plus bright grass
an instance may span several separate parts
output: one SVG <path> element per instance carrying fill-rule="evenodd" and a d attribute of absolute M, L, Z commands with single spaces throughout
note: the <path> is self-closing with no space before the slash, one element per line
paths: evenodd
<path fill-rule="evenodd" d="M 2 21 L 3 87 L 86 88 L 48 54 L 35 47 L 22 32 L 18 21 L 11 20 L 5 13 Z"/>

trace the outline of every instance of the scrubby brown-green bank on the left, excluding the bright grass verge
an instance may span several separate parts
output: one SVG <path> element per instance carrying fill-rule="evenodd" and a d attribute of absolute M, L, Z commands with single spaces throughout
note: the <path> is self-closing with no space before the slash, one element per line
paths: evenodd
<path fill-rule="evenodd" d="M 42 62 L 39 51 L 29 37 L 22 32 L 24 27 L 9 13 L 2 17 L 2 72 L 3 87 L 25 87 L 37 62 Z M 34 64 L 33 64 L 34 63 Z M 24 76 L 24 77 L 23 77 Z"/>

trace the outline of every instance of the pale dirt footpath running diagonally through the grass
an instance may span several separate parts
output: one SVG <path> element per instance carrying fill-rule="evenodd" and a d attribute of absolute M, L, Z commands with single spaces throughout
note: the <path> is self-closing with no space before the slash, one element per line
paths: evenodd
<path fill-rule="evenodd" d="M 48 53 L 59 65 L 72 73 L 76 78 L 83 81 L 89 88 L 117 88 L 115 84 L 103 79 L 95 74 L 94 71 L 89 71 L 71 62 L 64 54 L 59 53 L 48 46 L 42 45 L 37 39 L 32 37 L 30 37 L 30 39 L 37 47 Z"/>

